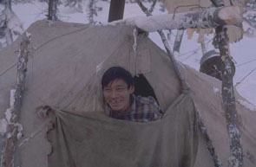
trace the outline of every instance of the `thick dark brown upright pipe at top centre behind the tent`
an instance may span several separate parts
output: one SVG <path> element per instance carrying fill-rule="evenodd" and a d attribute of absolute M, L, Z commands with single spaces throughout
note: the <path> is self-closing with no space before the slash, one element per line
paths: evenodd
<path fill-rule="evenodd" d="M 108 13 L 108 22 L 121 20 L 123 17 L 124 6 L 125 0 L 111 0 Z"/>

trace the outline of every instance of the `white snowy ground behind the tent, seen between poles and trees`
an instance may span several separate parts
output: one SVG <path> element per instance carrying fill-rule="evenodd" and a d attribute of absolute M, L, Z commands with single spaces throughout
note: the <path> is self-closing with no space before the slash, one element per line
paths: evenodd
<path fill-rule="evenodd" d="M 149 6 L 150 4 L 147 3 Z M 87 3 L 82 4 L 82 12 L 78 10 L 71 9 L 69 7 L 64 7 L 63 5 L 59 8 L 59 17 L 64 22 L 81 22 L 87 23 Z M 108 9 L 109 2 L 99 1 L 96 3 L 96 6 L 102 8 L 101 11 L 97 12 L 97 16 L 94 17 L 94 20 L 97 22 L 107 22 L 108 21 Z M 23 3 L 23 4 L 13 4 L 12 6 L 16 15 L 23 22 L 23 28 L 27 29 L 32 22 L 36 20 L 46 18 L 47 13 L 47 4 L 46 3 Z M 155 6 L 153 15 L 162 14 L 161 6 L 159 3 Z M 166 11 L 167 12 L 167 11 Z M 126 3 L 124 18 L 131 16 L 145 16 L 139 6 L 136 3 Z M 175 31 L 171 35 L 170 44 L 173 46 Z M 150 38 L 161 48 L 163 45 L 161 43 L 161 38 L 156 33 L 151 33 Z M 207 41 L 211 40 L 213 35 L 206 36 Z M 192 40 L 187 40 L 187 35 L 183 36 L 183 41 L 181 43 L 181 53 L 176 57 L 179 61 L 188 64 L 195 69 L 200 67 L 200 58 L 201 50 L 200 44 L 196 42 L 197 36 L 194 35 Z M 233 55 L 234 60 L 236 61 L 236 74 L 234 76 L 234 85 L 240 80 L 253 71 L 256 67 L 256 38 L 244 37 L 240 42 L 231 44 L 231 54 Z M 211 42 L 207 44 L 207 50 L 213 49 Z M 254 60 L 254 61 L 252 61 Z M 252 61 L 245 63 L 247 61 Z M 245 64 L 243 64 L 245 63 Z M 240 84 L 236 86 L 239 93 L 246 98 L 249 102 L 256 105 L 256 69 L 250 74 L 246 79 L 244 79 Z"/>

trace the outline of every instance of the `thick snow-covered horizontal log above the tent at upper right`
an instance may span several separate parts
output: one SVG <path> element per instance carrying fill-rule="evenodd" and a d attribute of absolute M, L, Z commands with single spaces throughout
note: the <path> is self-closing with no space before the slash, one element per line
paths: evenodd
<path fill-rule="evenodd" d="M 222 25 L 239 26 L 241 23 L 242 11 L 240 7 L 229 6 L 178 14 L 136 16 L 108 24 L 133 25 L 144 31 L 154 32 L 161 29 L 208 29 Z"/>

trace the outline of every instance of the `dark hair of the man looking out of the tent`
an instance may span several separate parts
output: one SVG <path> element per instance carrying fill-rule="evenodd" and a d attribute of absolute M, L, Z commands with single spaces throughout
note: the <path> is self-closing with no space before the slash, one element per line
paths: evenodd
<path fill-rule="evenodd" d="M 102 76 L 102 89 L 116 79 L 124 80 L 128 88 L 134 85 L 134 78 L 126 69 L 123 67 L 110 67 Z"/>

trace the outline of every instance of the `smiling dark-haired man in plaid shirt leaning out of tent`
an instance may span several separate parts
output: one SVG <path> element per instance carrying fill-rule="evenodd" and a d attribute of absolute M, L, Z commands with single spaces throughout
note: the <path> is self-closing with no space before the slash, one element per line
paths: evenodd
<path fill-rule="evenodd" d="M 109 117 L 138 122 L 161 119 L 157 102 L 153 97 L 135 96 L 134 79 L 122 67 L 110 67 L 103 74 L 102 92 Z"/>

